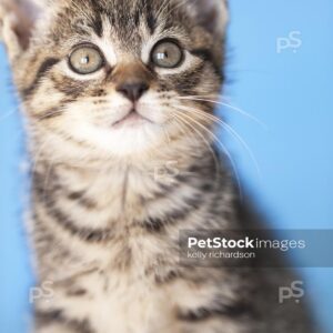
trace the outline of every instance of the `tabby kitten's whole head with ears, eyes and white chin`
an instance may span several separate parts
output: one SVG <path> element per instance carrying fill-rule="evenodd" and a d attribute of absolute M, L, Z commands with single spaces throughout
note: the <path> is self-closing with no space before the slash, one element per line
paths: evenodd
<path fill-rule="evenodd" d="M 1 34 L 31 133 L 51 151 L 127 155 L 205 133 L 224 0 L 17 1 L 0 0 Z"/>

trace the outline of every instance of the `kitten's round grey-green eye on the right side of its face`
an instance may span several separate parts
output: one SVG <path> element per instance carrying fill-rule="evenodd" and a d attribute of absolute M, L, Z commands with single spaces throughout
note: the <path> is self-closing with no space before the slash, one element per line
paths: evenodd
<path fill-rule="evenodd" d="M 175 42 L 162 41 L 154 47 L 151 58 L 158 67 L 176 68 L 183 60 L 183 51 Z"/>

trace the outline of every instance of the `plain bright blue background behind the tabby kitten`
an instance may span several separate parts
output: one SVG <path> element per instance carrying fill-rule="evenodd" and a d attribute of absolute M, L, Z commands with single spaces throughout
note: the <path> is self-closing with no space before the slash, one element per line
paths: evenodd
<path fill-rule="evenodd" d="M 280 229 L 333 229 L 333 2 L 231 2 L 225 94 L 229 123 L 254 154 L 224 134 L 250 193 Z M 278 40 L 290 37 L 280 53 Z M 285 40 L 284 40 L 285 42 Z M 26 200 L 23 139 L 10 71 L 0 48 L 0 331 L 28 324 L 31 270 L 22 225 Z M 302 270 L 306 293 L 333 332 L 333 269 Z M 289 332 L 286 332 L 289 333 Z"/>

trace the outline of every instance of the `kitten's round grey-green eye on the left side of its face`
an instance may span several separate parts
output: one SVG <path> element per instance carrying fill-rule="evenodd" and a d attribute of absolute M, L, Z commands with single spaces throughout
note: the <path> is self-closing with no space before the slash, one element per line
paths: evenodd
<path fill-rule="evenodd" d="M 104 59 L 101 52 L 92 47 L 77 48 L 69 58 L 71 69 L 79 74 L 91 74 L 103 67 Z"/>

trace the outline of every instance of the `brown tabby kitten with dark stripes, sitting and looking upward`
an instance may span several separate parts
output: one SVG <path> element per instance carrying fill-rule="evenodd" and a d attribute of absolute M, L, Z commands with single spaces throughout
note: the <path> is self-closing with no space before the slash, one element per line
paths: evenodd
<path fill-rule="evenodd" d="M 246 228 L 206 101 L 223 83 L 224 1 L 0 4 L 52 286 L 33 332 L 313 332 L 278 303 L 282 271 L 179 264 L 181 230 Z"/>

